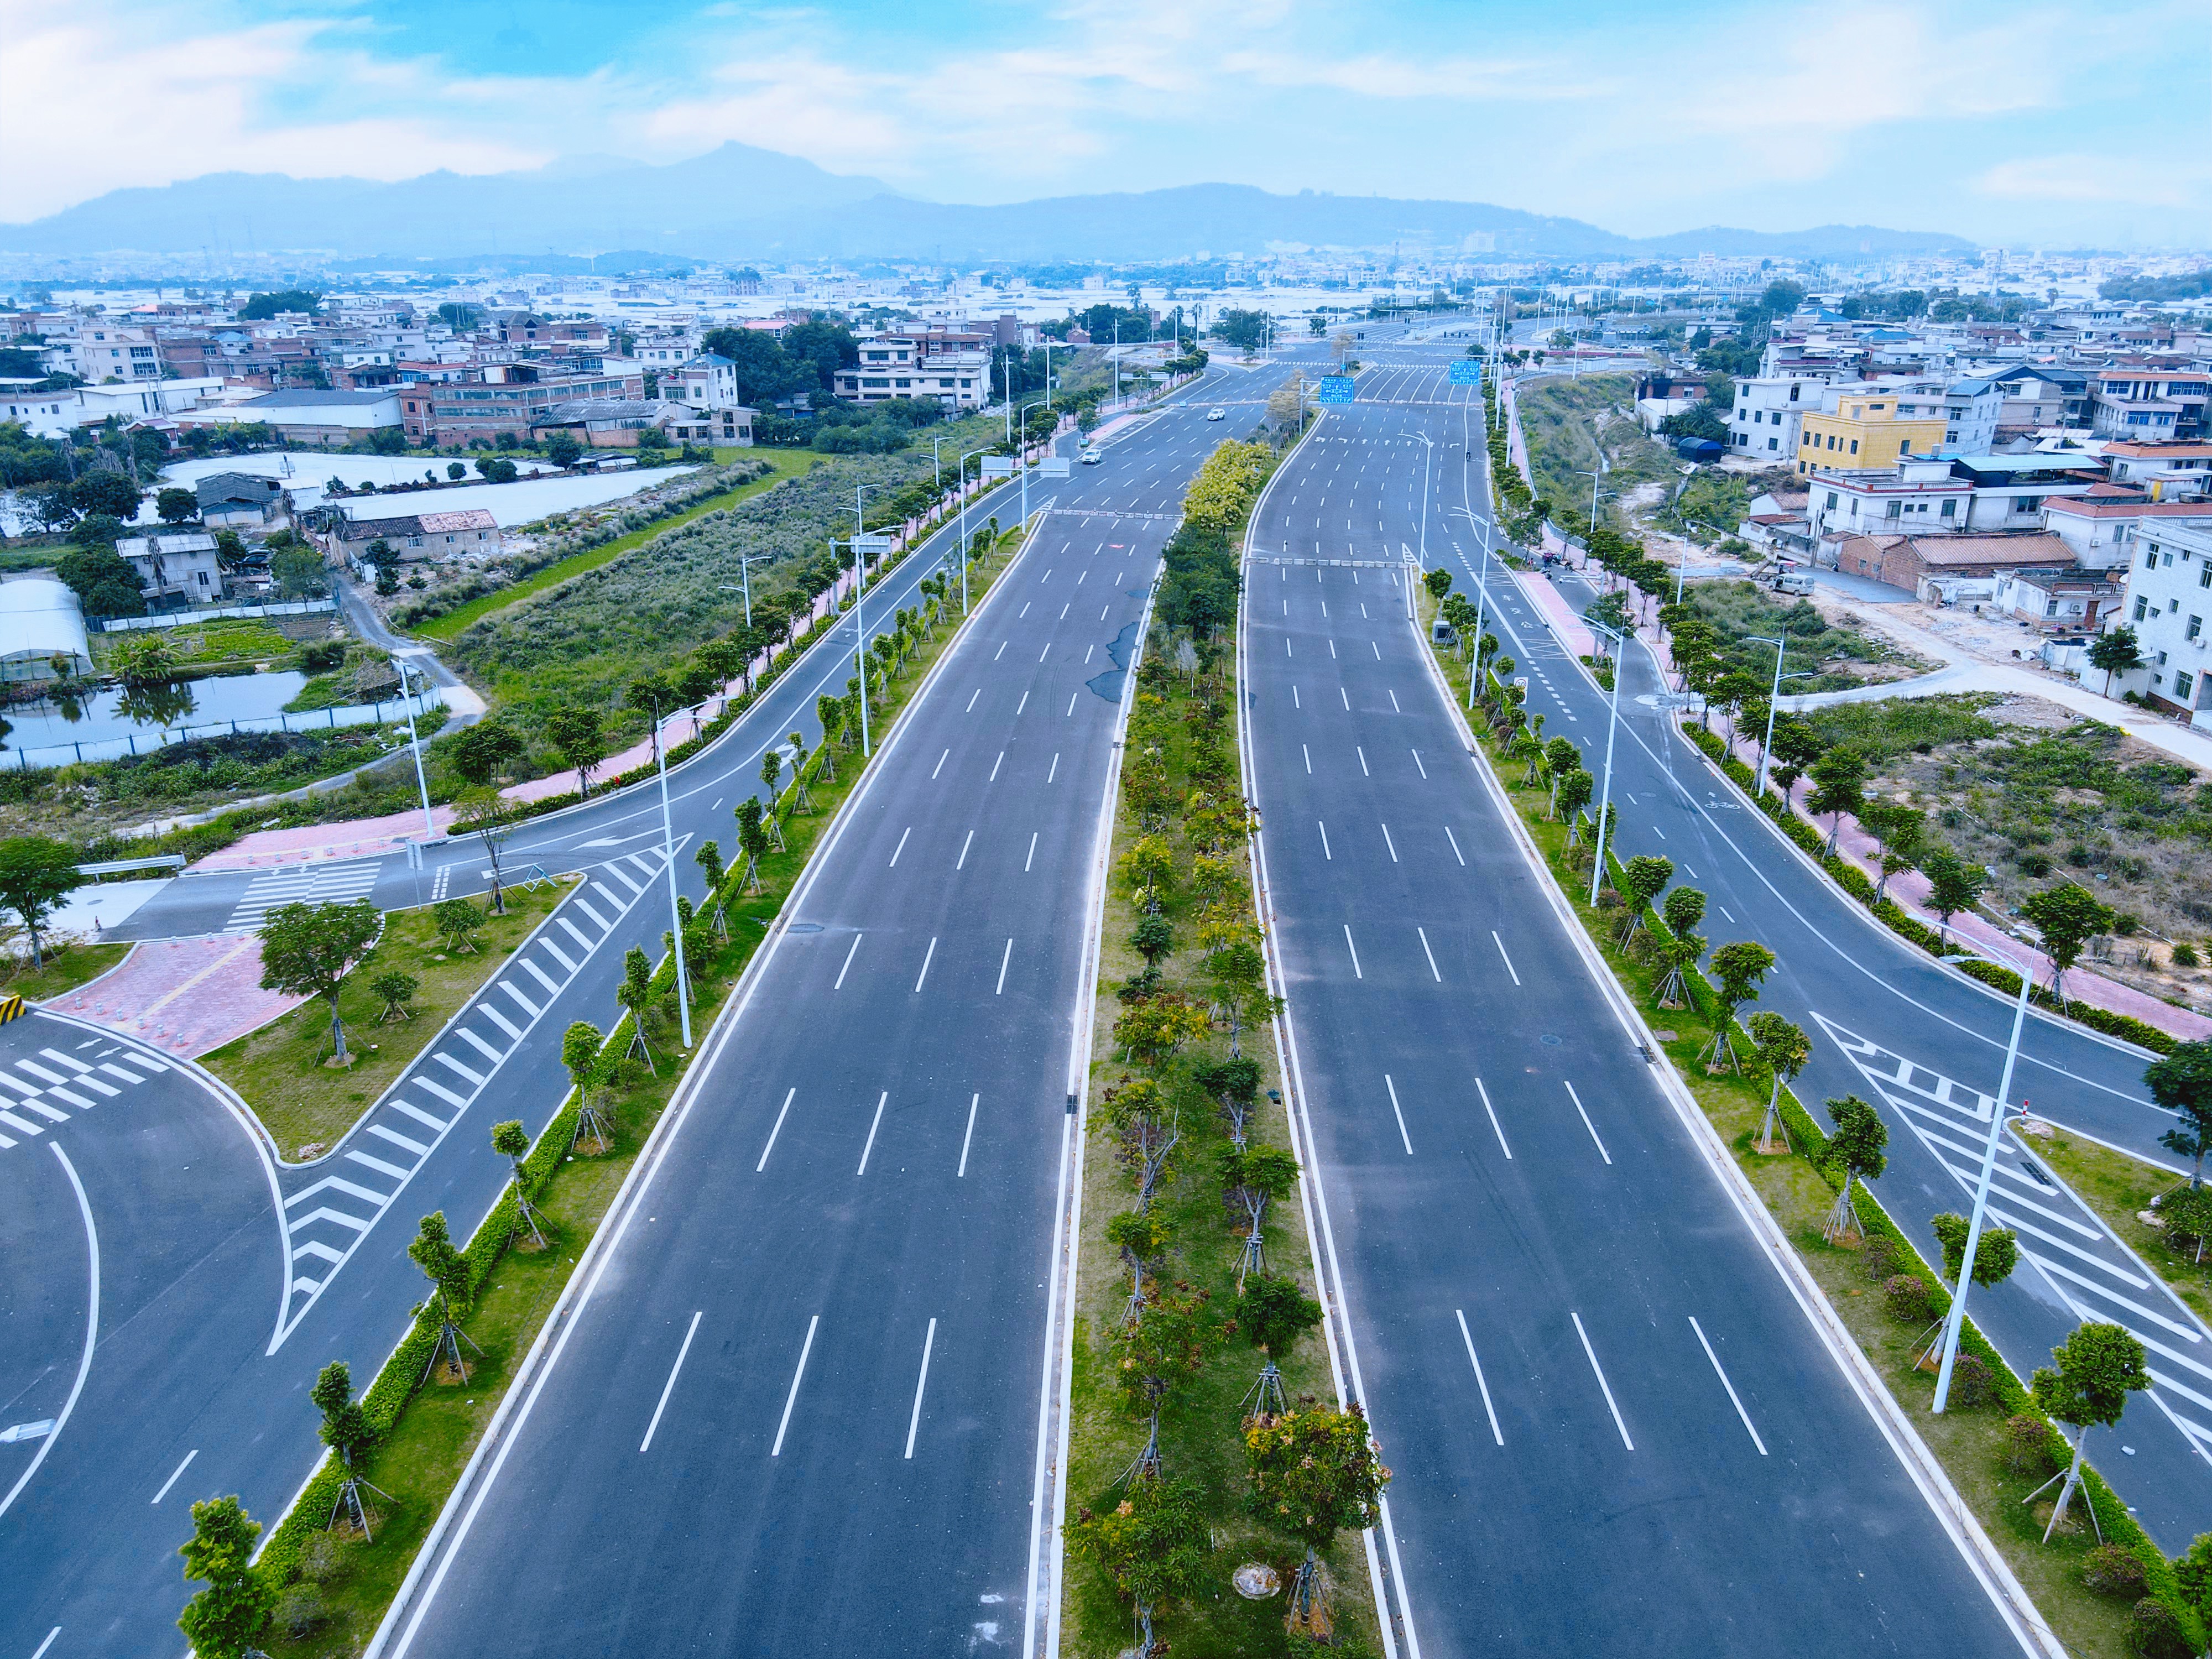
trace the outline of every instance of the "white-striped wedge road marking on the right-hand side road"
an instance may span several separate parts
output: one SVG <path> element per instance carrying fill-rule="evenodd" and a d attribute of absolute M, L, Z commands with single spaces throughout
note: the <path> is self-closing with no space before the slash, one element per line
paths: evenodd
<path fill-rule="evenodd" d="M 1995 1102 L 1820 1013 L 1814 1020 L 1971 1199 Z M 2212 1462 L 2212 1343 L 2205 1343 L 2203 1325 L 2163 1279 L 2011 1137 L 1997 1148 L 1989 1186 L 1991 1221 L 2020 1237 L 2022 1259 L 2035 1265 L 2075 1318 L 2124 1325 L 2135 1334 L 2150 1356 L 2150 1398 Z"/>

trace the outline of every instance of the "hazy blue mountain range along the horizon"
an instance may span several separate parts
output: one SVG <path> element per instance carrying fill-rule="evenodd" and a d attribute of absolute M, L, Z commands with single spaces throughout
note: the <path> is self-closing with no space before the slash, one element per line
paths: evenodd
<path fill-rule="evenodd" d="M 389 259 L 422 268 L 624 250 L 655 261 L 929 259 L 1172 261 L 1270 250 L 1462 252 L 1471 257 L 1679 259 L 1690 254 L 1851 259 L 1971 252 L 1960 237 L 1869 226 L 1796 232 L 1688 230 L 1617 237 L 1480 201 L 1270 195 L 1241 184 L 960 206 L 898 195 L 880 179 L 723 144 L 646 166 L 571 157 L 531 173 L 427 173 L 398 184 L 210 173 L 161 188 L 111 190 L 31 223 L 0 226 L 0 252 L 173 254 L 217 268 L 239 254 Z"/>

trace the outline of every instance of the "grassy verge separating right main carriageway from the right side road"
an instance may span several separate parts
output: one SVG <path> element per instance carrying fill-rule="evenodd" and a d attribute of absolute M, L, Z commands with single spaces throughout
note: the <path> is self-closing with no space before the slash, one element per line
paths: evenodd
<path fill-rule="evenodd" d="M 1433 611 L 1433 606 L 1425 602 L 1425 611 Z M 1464 706 L 1467 666 L 1455 655 L 1438 655 L 1438 664 L 1444 668 L 1447 684 L 1455 688 L 1458 703 Z M 1486 675 L 1486 681 L 1491 695 L 1498 697 L 1495 677 Z M 1524 763 L 1504 759 L 1495 728 L 1486 726 L 1482 712 L 1478 703 L 1471 723 L 1491 774 L 1513 803 L 1577 920 L 1606 958 L 1608 969 L 1639 1006 L 1655 1009 L 1657 980 L 1661 975 L 1657 951 L 1624 951 L 1615 945 L 1615 929 L 1621 914 L 1610 891 L 1604 894 L 1604 909 L 1593 909 L 1586 902 L 1588 823 L 1579 825 L 1584 849 L 1571 849 L 1568 825 L 1548 818 L 1548 787 L 1520 783 L 1526 770 Z M 1617 863 L 1615 874 L 1619 874 Z M 1652 931 L 1657 938 L 1663 938 L 1663 922 L 1652 918 Z M 1936 1394 L 1936 1376 L 1920 1369 L 1916 1358 L 1922 1347 L 1922 1332 L 1944 1312 L 1949 1301 L 1940 1276 L 1920 1261 L 1880 1203 L 1865 1197 L 1858 1199 L 1858 1208 L 1867 1223 L 1867 1237 L 1847 1239 L 1840 1245 L 1823 1239 L 1823 1221 L 1840 1186 L 1840 1172 L 1825 1161 L 1827 1139 L 1820 1126 L 1785 1088 L 1781 1095 L 1785 1108 L 1783 1121 L 1790 1128 L 1796 1155 L 1765 1157 L 1754 1150 L 1754 1137 L 1759 1135 L 1767 1104 L 1770 1077 L 1756 1068 L 1756 1062 L 1747 1062 L 1741 1073 L 1708 1075 L 1703 1053 L 1712 1048 L 1719 1009 L 1701 975 L 1692 975 L 1690 993 L 1692 1009 L 1657 1015 L 1668 1026 L 1657 1033 L 1666 1064 L 1674 1068 L 1728 1144 L 1736 1166 L 1774 1214 L 1798 1259 L 1851 1332 L 1851 1338 L 1865 1352 L 1891 1398 L 1911 1418 L 1911 1427 L 1942 1462 L 1951 1484 L 2004 1555 L 2051 1630 L 2079 1655 L 2117 1657 L 2130 1652 L 2132 1648 L 2126 1639 L 2130 1604 L 2097 1595 L 2084 1584 L 2086 1557 L 2097 1542 L 2088 1524 L 2070 1526 L 2051 1544 L 2044 1544 L 2042 1526 L 2051 1515 L 2048 1498 L 2037 1504 L 2022 1502 L 2053 1473 L 2057 1467 L 2053 1460 L 2064 1455 L 2064 1442 L 2057 1440 L 2057 1431 L 2051 1429 L 2042 1444 L 2020 1451 L 2008 1431 L 2008 1420 L 2039 1413 L 2020 1378 L 1982 1338 L 1973 1321 L 1966 1321 L 1960 1352 L 1986 1367 L 1989 1398 L 1978 1405 L 1964 1405 L 1960 1396 L 1953 1396 L 1951 1409 L 1944 1416 L 1938 1418 L 1929 1411 Z M 1750 1009 L 1745 1009 L 1745 1015 L 1750 1015 Z M 1747 1053 L 1750 1042 L 1741 1035 L 1741 1029 L 1734 1029 L 1734 1033 L 1736 1048 Z M 1891 1274 L 1913 1274 L 1922 1285 L 1931 1287 L 1927 1305 L 1905 1318 L 1893 1316 L 1885 1294 L 1885 1281 Z M 2104 1535 L 2128 1546 L 2143 1562 L 2150 1593 L 2194 1626 L 2199 1615 L 2181 1595 L 2166 1555 L 2135 1524 L 2104 1480 L 2095 1478 L 2095 1469 L 2084 1471 L 2084 1491 L 2097 1509 Z M 2199 1632 L 2201 1626 L 2192 1628 L 2192 1637 Z"/>

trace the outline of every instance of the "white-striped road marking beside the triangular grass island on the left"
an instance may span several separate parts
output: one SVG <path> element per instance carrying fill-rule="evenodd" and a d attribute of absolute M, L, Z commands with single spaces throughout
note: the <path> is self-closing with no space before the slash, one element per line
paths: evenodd
<path fill-rule="evenodd" d="M 677 852 L 690 836 L 677 841 Z M 493 1073 L 668 869 L 659 847 L 593 865 L 529 945 L 515 951 L 431 1042 L 336 1152 L 294 1175 L 283 1201 L 292 1279 L 270 1354 L 347 1263 L 400 1190 L 460 1124 Z"/>

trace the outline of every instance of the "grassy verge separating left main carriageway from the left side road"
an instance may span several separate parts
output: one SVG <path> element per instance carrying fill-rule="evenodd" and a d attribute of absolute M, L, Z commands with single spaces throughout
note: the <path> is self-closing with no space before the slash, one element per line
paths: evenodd
<path fill-rule="evenodd" d="M 978 562 L 969 577 L 971 599 L 980 599 L 989 591 L 1018 544 L 1020 533 L 1009 531 L 998 546 L 998 557 Z M 887 730 L 889 721 L 914 697 L 929 666 L 951 648 L 956 637 L 956 628 L 940 628 L 936 639 L 925 639 L 914 648 L 885 688 L 878 730 Z M 783 818 L 785 852 L 761 858 L 761 891 L 745 889 L 739 872 L 723 880 L 719 896 L 728 914 L 728 936 L 708 931 L 706 918 L 712 916 L 712 905 L 703 907 L 686 936 L 699 1029 L 712 1024 L 745 964 L 759 951 L 814 847 L 865 772 L 858 754 L 841 752 L 834 779 L 823 776 L 821 763 L 823 752 L 816 750 L 807 761 L 812 812 L 790 812 L 792 794 L 785 792 L 785 812 L 790 814 Z M 723 841 L 728 845 L 734 836 Z M 529 1356 L 531 1343 L 538 1340 L 538 1332 L 575 1272 L 575 1263 L 606 1219 L 622 1181 L 681 1082 L 681 1068 L 670 1064 L 670 1055 L 679 1053 L 679 1011 L 670 956 L 661 958 L 653 987 L 657 995 L 646 1013 L 646 1040 L 661 1057 L 659 1075 L 653 1075 L 637 1060 L 615 1060 L 630 1040 L 628 1013 L 615 1022 L 602 1048 L 595 1104 L 613 1119 L 613 1139 L 606 1152 L 597 1152 L 593 1141 L 575 1141 L 577 1097 L 571 1091 L 555 1104 L 551 1121 L 538 1133 L 538 1141 L 524 1159 L 531 1201 L 551 1219 L 546 1248 L 535 1248 L 526 1232 L 520 1245 L 509 1248 L 515 1228 L 511 1192 L 493 1206 L 476 1237 L 469 1239 L 465 1256 L 471 1298 L 462 1329 L 484 1349 L 482 1356 L 471 1356 L 465 1378 L 447 1380 L 440 1376 L 425 1383 L 422 1374 L 431 1358 L 436 1325 L 425 1325 L 418 1318 L 374 1385 L 365 1389 L 363 1405 L 376 1444 L 358 1462 L 358 1473 L 389 1493 L 389 1500 L 376 1500 L 374 1544 L 363 1542 L 356 1533 L 325 1531 L 338 1489 L 338 1471 L 327 1460 L 310 1480 L 299 1504 L 272 1531 L 261 1553 L 261 1571 L 283 1595 L 279 1628 L 263 1644 L 274 1659 L 352 1659 L 367 1646 L 385 1608 L 392 1606 L 392 1597 L 436 1524 L 438 1511 L 491 1425 L 500 1398 Z M 524 1119 L 529 1117 L 531 1113 L 524 1110 Z M 469 1217 L 451 1221 L 458 1223 L 458 1232 L 460 1225 L 469 1223 Z"/>

